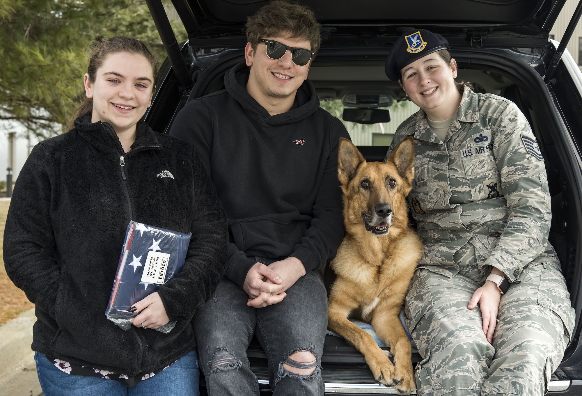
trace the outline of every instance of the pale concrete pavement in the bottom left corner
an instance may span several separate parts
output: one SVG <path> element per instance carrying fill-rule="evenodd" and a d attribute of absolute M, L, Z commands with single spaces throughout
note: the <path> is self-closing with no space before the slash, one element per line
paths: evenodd
<path fill-rule="evenodd" d="M 40 396 L 33 342 L 34 308 L 0 326 L 0 395 Z"/>

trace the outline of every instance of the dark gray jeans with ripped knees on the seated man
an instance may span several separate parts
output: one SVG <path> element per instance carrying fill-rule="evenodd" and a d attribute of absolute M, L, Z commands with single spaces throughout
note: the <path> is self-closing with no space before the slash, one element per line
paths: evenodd
<path fill-rule="evenodd" d="M 247 306 L 249 296 L 238 285 L 222 279 L 212 299 L 193 319 L 208 395 L 260 396 L 246 353 L 255 331 L 267 353 L 274 396 L 324 394 L 321 354 L 328 301 L 320 271 L 299 278 L 286 293 L 280 303 L 253 308 Z M 289 358 L 298 351 L 311 352 L 315 359 L 297 362 Z M 295 374 L 310 367 L 315 370 L 309 375 Z"/>

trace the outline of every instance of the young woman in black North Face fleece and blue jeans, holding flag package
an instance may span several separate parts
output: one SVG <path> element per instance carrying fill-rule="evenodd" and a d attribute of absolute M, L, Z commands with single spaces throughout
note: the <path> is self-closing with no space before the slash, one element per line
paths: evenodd
<path fill-rule="evenodd" d="M 102 41 L 74 127 L 38 143 L 20 171 L 4 260 L 36 304 L 45 396 L 198 394 L 191 319 L 225 270 L 226 216 L 194 147 L 140 121 L 155 72 L 141 41 Z M 192 236 L 182 271 L 134 305 L 125 331 L 104 312 L 130 220 Z M 154 331 L 170 320 L 170 333 Z"/>

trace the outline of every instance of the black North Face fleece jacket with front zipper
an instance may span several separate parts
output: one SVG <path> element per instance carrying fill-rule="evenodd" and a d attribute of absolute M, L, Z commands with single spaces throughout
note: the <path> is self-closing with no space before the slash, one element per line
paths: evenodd
<path fill-rule="evenodd" d="M 196 346 L 191 319 L 225 270 L 226 215 L 190 144 L 139 122 L 124 154 L 107 123 L 75 126 L 34 147 L 6 220 L 6 272 L 36 304 L 32 348 L 128 375 L 161 369 Z M 169 334 L 105 317 L 130 220 L 192 233 L 182 271 L 158 288 Z"/>

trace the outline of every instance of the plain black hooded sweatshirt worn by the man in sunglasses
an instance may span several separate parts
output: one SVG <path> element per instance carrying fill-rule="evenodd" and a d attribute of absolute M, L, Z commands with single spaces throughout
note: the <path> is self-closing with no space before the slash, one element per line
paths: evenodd
<path fill-rule="evenodd" d="M 288 112 L 269 115 L 246 91 L 244 62 L 226 89 L 189 102 L 170 135 L 191 142 L 228 215 L 226 277 L 242 287 L 256 260 L 294 256 L 325 265 L 343 238 L 338 143 L 343 124 L 320 108 L 309 80 Z"/>

